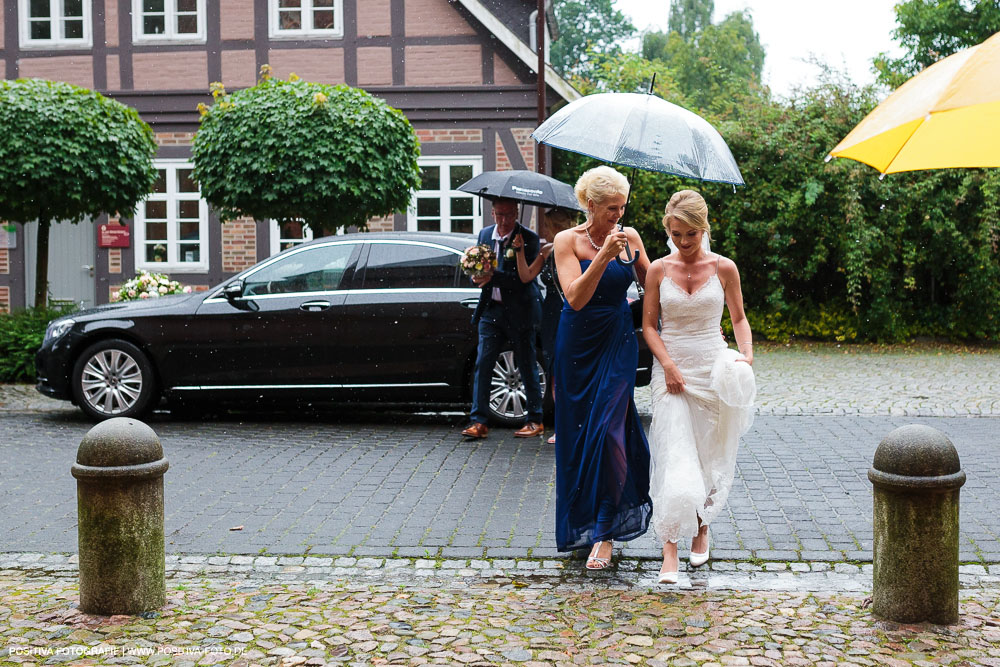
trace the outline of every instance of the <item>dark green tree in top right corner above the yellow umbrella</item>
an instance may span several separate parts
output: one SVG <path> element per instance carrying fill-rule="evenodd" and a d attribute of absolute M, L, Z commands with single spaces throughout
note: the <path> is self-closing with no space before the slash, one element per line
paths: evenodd
<path fill-rule="evenodd" d="M 895 7 L 892 36 L 903 47 L 899 58 L 887 53 L 874 60 L 879 81 L 897 88 L 908 78 L 1000 32 L 997 0 L 905 0 Z"/>

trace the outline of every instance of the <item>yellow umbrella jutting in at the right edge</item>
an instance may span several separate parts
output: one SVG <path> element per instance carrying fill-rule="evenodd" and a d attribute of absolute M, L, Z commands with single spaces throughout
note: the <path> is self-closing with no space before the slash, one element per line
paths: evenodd
<path fill-rule="evenodd" d="M 883 174 L 1000 167 L 1000 33 L 904 83 L 830 157 L 864 162 Z"/>

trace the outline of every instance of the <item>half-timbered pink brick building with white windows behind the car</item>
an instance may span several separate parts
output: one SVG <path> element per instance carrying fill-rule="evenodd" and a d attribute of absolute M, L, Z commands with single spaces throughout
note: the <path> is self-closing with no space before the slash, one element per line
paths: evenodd
<path fill-rule="evenodd" d="M 400 109 L 421 142 L 423 182 L 405 214 L 375 230 L 475 232 L 483 211 L 458 184 L 533 169 L 535 0 L 3 0 L 5 78 L 92 88 L 134 107 L 158 143 L 155 191 L 133 218 L 53 226 L 55 299 L 106 303 L 140 269 L 205 288 L 310 237 L 274 221 L 221 224 L 191 178 L 197 105 L 211 82 L 251 86 L 269 64 L 363 88 Z M 551 14 L 547 27 L 554 25 Z M 549 35 L 551 37 L 551 34 Z M 546 39 L 548 43 L 548 39 Z M 546 68 L 550 106 L 578 93 Z M 102 240 L 108 223 L 128 230 Z M 30 305 L 34 223 L 0 227 L 0 311 Z"/>

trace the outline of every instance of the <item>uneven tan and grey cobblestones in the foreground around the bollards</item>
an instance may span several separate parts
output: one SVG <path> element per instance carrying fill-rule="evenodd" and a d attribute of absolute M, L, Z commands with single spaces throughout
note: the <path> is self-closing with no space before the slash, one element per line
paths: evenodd
<path fill-rule="evenodd" d="M 111 617 L 77 609 L 73 577 L 0 570 L 0 665 L 1000 664 L 995 588 L 964 590 L 959 623 L 944 627 L 875 620 L 863 590 L 678 590 L 646 583 L 651 572 L 637 581 L 423 569 L 171 576 L 162 609 Z"/>

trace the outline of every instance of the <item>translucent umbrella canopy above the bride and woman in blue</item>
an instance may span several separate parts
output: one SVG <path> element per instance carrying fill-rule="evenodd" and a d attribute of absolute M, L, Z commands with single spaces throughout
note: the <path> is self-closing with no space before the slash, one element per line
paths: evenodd
<path fill-rule="evenodd" d="M 600 93 L 572 102 L 535 141 L 612 164 L 743 185 L 736 160 L 704 118 L 651 94 Z"/>

